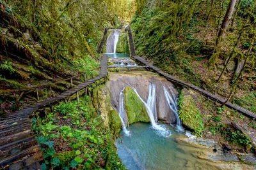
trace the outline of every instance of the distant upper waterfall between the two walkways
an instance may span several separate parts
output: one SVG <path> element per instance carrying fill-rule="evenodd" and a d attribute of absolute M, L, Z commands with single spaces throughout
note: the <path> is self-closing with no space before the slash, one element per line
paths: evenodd
<path fill-rule="evenodd" d="M 111 32 L 111 34 L 109 34 L 108 40 L 107 40 L 106 53 L 109 53 L 109 54 L 116 53 L 116 45 L 118 42 L 119 35 L 120 35 L 119 29 L 115 29 L 113 32 Z"/>

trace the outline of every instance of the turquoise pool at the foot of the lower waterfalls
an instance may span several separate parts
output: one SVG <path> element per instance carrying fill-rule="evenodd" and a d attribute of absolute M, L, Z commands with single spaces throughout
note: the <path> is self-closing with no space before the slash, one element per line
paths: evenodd
<path fill-rule="evenodd" d="M 118 156 L 128 169 L 183 169 L 186 166 L 191 156 L 177 148 L 177 131 L 168 125 L 163 126 L 172 131 L 172 136 L 163 138 L 150 128 L 150 124 L 143 123 L 130 125 L 131 136 L 121 132 L 120 139 L 116 139 L 116 147 Z"/>

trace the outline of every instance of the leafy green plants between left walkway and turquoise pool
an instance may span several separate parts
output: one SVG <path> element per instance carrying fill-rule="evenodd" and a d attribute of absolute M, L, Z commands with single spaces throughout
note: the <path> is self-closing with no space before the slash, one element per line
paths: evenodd
<path fill-rule="evenodd" d="M 114 137 L 104 127 L 88 96 L 81 97 L 79 103 L 55 106 L 47 120 L 33 120 L 33 129 L 44 153 L 43 169 L 124 169 L 116 155 Z M 108 164 L 99 159 L 108 160 Z"/>

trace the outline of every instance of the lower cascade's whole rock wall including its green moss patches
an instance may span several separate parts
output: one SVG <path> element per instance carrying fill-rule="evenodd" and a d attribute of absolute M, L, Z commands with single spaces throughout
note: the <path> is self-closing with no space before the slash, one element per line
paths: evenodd
<path fill-rule="evenodd" d="M 105 124 L 116 133 L 120 131 L 121 123 L 118 110 L 120 107 L 119 96 L 122 90 L 124 90 L 126 111 L 126 116 L 123 117 L 125 125 L 136 122 L 150 122 L 147 110 L 141 101 L 143 99 L 147 102 L 150 83 L 156 85 L 156 119 L 162 120 L 166 124 L 174 124 L 176 118 L 165 99 L 163 87 L 171 88 L 176 97 L 178 92 L 173 88 L 172 83 L 148 71 L 110 73 L 109 81 L 99 90 L 101 91 L 100 110 Z M 131 87 L 137 90 L 141 99 Z"/>

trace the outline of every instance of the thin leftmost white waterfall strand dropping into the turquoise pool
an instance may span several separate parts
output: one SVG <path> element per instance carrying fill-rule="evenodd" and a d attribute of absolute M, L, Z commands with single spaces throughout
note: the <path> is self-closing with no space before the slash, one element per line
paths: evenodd
<path fill-rule="evenodd" d="M 124 122 L 124 117 L 126 115 L 126 111 L 125 111 L 125 108 L 124 108 L 124 89 L 119 94 L 119 103 L 118 104 L 119 104 L 118 115 L 121 119 L 123 130 L 124 130 L 125 134 L 127 136 L 129 136 L 130 132 L 127 131 L 126 125 L 125 125 L 125 122 Z"/>

